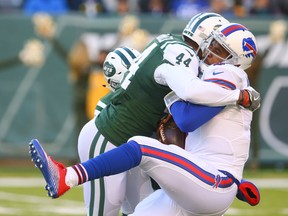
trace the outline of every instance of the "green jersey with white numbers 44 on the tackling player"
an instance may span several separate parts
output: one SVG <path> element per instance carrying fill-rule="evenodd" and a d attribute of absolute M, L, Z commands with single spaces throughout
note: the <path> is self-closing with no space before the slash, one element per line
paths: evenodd
<path fill-rule="evenodd" d="M 165 34 L 154 39 L 131 65 L 121 87 L 95 120 L 100 133 L 114 145 L 135 135 L 151 136 L 165 115 L 163 98 L 171 89 L 154 79 L 154 71 L 162 63 L 183 64 L 195 73 L 199 60 L 180 36 Z"/>

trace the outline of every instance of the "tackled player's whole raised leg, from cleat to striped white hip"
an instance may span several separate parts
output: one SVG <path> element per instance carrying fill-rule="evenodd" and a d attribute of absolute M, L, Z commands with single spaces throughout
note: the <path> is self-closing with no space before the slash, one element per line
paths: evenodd
<path fill-rule="evenodd" d="M 225 212 L 232 203 L 237 191 L 236 185 L 213 165 L 195 159 L 195 156 L 174 145 L 163 145 L 157 140 L 145 137 L 132 139 L 137 142 L 131 140 L 96 158 L 69 167 L 64 182 L 69 182 L 69 186 L 72 187 L 102 176 L 121 173 L 139 165 L 160 184 L 169 197 L 189 212 L 218 215 Z M 35 140 L 30 145 L 31 156 L 43 173 L 47 184 L 50 185 L 49 178 L 52 178 L 60 185 L 59 182 L 63 182 L 63 178 L 60 178 L 61 175 L 55 177 L 53 174 L 57 169 L 58 173 L 62 173 L 65 168 L 49 161 L 41 145 L 40 147 L 37 143 L 33 145 L 34 142 Z M 53 169 L 46 165 L 47 160 L 48 164 L 53 164 Z M 75 167 L 79 170 L 77 175 Z M 207 202 L 209 205 L 205 204 Z"/>

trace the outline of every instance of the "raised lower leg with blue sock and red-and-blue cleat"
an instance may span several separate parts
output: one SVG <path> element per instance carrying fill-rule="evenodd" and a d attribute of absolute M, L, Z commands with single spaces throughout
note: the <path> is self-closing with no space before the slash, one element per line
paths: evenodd
<path fill-rule="evenodd" d="M 57 198 L 70 188 L 104 176 L 123 173 L 139 165 L 141 149 L 136 142 L 129 142 L 86 162 L 70 167 L 54 161 L 37 139 L 29 143 L 32 162 L 39 168 L 47 183 L 46 190 Z"/>

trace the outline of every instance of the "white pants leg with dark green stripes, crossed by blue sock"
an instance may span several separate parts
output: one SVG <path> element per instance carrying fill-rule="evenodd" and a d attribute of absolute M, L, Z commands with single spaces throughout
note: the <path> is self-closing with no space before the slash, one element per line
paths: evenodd
<path fill-rule="evenodd" d="M 89 121 L 79 135 L 78 154 L 81 162 L 115 148 L 98 132 L 94 122 L 94 119 Z M 118 216 L 124 200 L 125 189 L 125 173 L 84 183 L 84 201 L 87 214 Z"/>

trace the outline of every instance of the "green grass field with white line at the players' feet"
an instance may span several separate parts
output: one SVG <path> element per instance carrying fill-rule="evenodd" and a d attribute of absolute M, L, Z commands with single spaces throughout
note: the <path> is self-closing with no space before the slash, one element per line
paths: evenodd
<path fill-rule="evenodd" d="M 251 216 L 288 215 L 288 171 L 246 171 L 245 178 L 255 180 L 261 202 L 251 207 L 235 199 L 225 214 Z M 52 200 L 44 190 L 44 180 L 34 167 L 0 167 L 0 215 L 80 216 L 85 215 L 82 187 L 73 188 L 63 197 Z"/>

